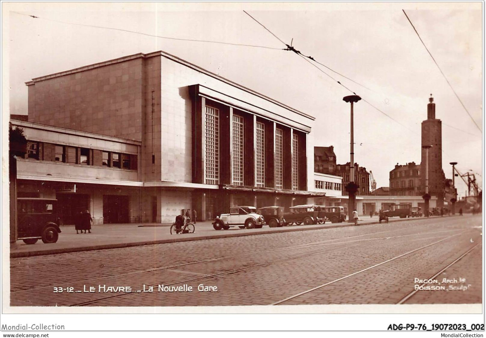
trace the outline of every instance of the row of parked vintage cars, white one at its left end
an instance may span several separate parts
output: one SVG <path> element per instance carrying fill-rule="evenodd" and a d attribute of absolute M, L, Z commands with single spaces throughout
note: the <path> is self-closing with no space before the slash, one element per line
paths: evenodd
<path fill-rule="evenodd" d="M 324 224 L 326 221 L 332 223 L 346 221 L 344 208 L 324 207 L 318 205 L 297 205 L 285 213 L 283 207 L 271 206 L 257 208 L 240 206 L 230 208 L 229 213 L 222 213 L 213 222 L 215 230 L 240 227 L 241 229 L 261 228 L 268 225 L 270 228 L 283 227 L 287 225 L 310 225 Z"/>

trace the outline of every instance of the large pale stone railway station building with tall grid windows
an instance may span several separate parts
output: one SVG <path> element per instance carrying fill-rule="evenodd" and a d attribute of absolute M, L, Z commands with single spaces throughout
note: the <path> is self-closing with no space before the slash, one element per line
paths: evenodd
<path fill-rule="evenodd" d="M 32 79 L 17 193 L 55 197 L 65 224 L 198 220 L 305 204 L 314 118 L 165 52 Z M 310 153 L 312 153 L 312 148 Z"/>

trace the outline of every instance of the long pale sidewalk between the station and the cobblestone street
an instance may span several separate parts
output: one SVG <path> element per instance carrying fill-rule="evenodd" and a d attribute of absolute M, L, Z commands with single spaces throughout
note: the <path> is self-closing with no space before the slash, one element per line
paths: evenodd
<path fill-rule="evenodd" d="M 437 217 L 437 216 L 435 216 Z M 438 216 L 440 217 L 440 216 Z M 390 223 L 397 221 L 413 221 L 422 218 L 390 218 Z M 377 224 L 378 216 L 361 216 L 359 225 Z M 248 236 L 262 233 L 287 232 L 287 231 L 308 231 L 316 229 L 329 229 L 354 226 L 353 223 L 330 223 L 316 225 L 287 226 L 281 228 L 270 228 L 263 226 L 261 229 L 240 229 L 232 227 L 229 230 L 216 231 L 211 221 L 197 222 L 194 233 L 171 235 L 170 224 L 143 223 L 143 224 L 103 224 L 94 225 L 91 233 L 76 234 L 74 226 L 61 226 L 61 233 L 57 243 L 44 244 L 41 240 L 32 245 L 27 245 L 18 240 L 10 246 L 10 257 L 28 257 L 38 255 L 49 255 L 55 253 L 126 248 L 141 245 L 152 245 L 161 243 L 173 243 L 184 241 L 195 241 L 202 239 L 213 239 L 222 237 Z"/>

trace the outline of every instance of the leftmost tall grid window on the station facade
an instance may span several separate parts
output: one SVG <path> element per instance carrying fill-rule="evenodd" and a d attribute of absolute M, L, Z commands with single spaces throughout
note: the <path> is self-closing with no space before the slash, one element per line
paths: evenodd
<path fill-rule="evenodd" d="M 206 106 L 206 184 L 219 184 L 219 110 Z"/>

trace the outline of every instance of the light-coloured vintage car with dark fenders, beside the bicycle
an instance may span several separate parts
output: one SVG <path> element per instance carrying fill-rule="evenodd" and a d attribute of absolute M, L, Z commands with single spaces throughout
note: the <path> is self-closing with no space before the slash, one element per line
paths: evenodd
<path fill-rule="evenodd" d="M 228 230 L 230 227 L 253 229 L 261 228 L 263 224 L 265 224 L 265 218 L 257 213 L 257 208 L 243 206 L 230 208 L 229 213 L 216 216 L 213 228 L 215 230 Z"/>

